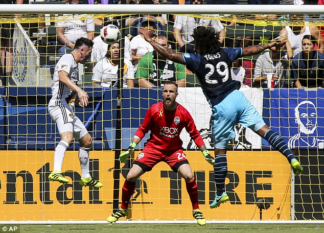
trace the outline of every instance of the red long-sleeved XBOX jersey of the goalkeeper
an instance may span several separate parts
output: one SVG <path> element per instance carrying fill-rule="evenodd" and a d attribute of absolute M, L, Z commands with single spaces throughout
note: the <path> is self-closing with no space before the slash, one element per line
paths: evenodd
<path fill-rule="evenodd" d="M 197 147 L 204 145 L 193 118 L 186 108 L 177 104 L 175 110 L 166 110 L 163 102 L 152 105 L 145 114 L 145 119 L 135 133 L 141 139 L 151 130 L 145 146 L 159 151 L 173 151 L 182 148 L 180 132 L 186 128 Z"/>

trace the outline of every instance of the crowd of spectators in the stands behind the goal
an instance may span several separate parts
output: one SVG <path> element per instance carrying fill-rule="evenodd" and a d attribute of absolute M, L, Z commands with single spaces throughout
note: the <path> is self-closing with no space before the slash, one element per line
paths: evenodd
<path fill-rule="evenodd" d="M 36 0 L 37 1 L 37 0 Z M 48 1 L 48 0 L 46 0 Z M 124 1 L 124 0 L 123 0 Z M 160 4 L 168 0 L 68 0 L 69 4 Z M 22 4 L 22 0 L 0 0 L 0 4 Z M 172 4 L 238 4 L 237 0 L 173 0 Z M 280 0 L 247 0 L 247 4 L 315 4 L 312 1 L 280 1 Z M 323 5 L 323 0 L 316 4 Z M 219 15 L 211 15 L 219 16 Z M 104 43 L 100 35 L 95 37 L 95 25 L 106 26 L 114 24 L 120 27 L 118 18 L 102 19 L 80 19 L 78 15 L 57 16 L 55 28 L 57 33 L 57 53 L 65 54 L 74 48 L 74 42 L 80 37 L 86 37 L 94 41 L 92 48 L 92 81 L 94 86 L 113 87 L 118 79 L 118 63 L 120 56 L 120 42 L 111 44 Z M 60 20 L 60 17 L 62 19 Z M 211 18 L 196 18 L 183 15 L 161 15 L 142 14 L 138 17 L 130 17 L 126 25 L 130 26 L 128 35 L 124 40 L 124 87 L 154 87 L 163 86 L 165 81 L 175 81 L 179 87 L 186 86 L 186 76 L 193 75 L 185 66 L 171 62 L 161 57 L 154 51 L 142 34 L 138 34 L 138 28 L 146 28 L 155 36 L 156 41 L 163 46 L 182 53 L 194 53 L 193 29 L 197 26 L 213 27 L 220 37 L 224 46 L 226 38 L 226 27 L 236 25 L 233 21 L 220 21 Z M 282 20 L 279 16 L 254 15 L 255 19 Z M 321 15 L 319 19 L 323 19 Z M 308 15 L 288 15 L 284 20 L 307 20 Z M 312 19 L 312 18 L 311 18 Z M 8 84 L 8 77 L 12 72 L 12 27 L 2 24 L 1 27 L 1 69 L 0 79 L 3 85 Z M 128 27 L 127 26 L 127 27 Z M 323 26 L 324 27 L 324 26 Z M 324 42 L 323 27 L 305 25 L 285 26 L 282 31 L 273 37 L 255 38 L 233 38 L 232 46 L 249 46 L 258 41 L 266 43 L 272 39 L 285 40 L 286 44 L 282 50 L 271 48 L 254 60 L 238 59 L 233 63 L 232 78 L 241 81 L 242 85 L 248 87 L 267 87 L 267 74 L 274 74 L 274 87 L 324 87 Z M 166 28 L 172 28 L 173 32 L 167 33 Z M 252 42 L 251 42 L 252 41 Z M 6 58 L 6 59 L 5 59 Z M 90 61 L 89 61 L 90 62 Z M 187 85 L 188 86 L 188 85 Z"/>

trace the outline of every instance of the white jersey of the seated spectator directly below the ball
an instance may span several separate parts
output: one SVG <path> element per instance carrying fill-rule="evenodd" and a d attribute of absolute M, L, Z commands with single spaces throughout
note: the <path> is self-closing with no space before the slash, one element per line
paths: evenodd
<path fill-rule="evenodd" d="M 124 59 L 124 79 L 123 87 L 127 87 L 127 79 L 134 79 L 134 67 L 130 60 Z M 117 85 L 118 65 L 111 63 L 106 57 L 95 65 L 92 81 L 101 82 L 103 87 L 112 87 Z"/>

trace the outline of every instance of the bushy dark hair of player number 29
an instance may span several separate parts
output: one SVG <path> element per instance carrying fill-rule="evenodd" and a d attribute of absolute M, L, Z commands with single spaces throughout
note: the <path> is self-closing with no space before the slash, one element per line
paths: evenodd
<path fill-rule="evenodd" d="M 221 48 L 219 36 L 212 27 L 198 26 L 194 29 L 192 37 L 195 39 L 195 46 L 204 52 L 217 52 Z"/>

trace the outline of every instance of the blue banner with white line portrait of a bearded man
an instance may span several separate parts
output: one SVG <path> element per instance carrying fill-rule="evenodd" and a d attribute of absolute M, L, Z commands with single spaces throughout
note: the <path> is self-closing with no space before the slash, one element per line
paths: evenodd
<path fill-rule="evenodd" d="M 265 90 L 264 97 L 263 117 L 289 148 L 324 148 L 323 89 Z"/>

